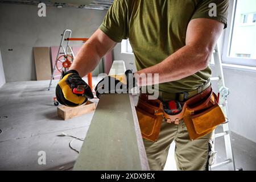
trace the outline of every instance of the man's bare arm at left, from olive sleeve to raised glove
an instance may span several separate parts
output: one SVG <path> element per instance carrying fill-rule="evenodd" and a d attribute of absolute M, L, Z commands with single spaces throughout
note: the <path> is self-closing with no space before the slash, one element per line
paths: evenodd
<path fill-rule="evenodd" d="M 81 77 L 97 67 L 101 57 L 112 50 L 117 43 L 98 29 L 77 53 L 70 69 L 75 69 Z"/>

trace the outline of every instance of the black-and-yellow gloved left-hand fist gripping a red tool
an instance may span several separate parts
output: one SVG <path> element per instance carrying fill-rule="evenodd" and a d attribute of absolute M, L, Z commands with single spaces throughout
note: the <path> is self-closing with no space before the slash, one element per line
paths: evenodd
<path fill-rule="evenodd" d="M 73 93 L 73 89 L 79 85 L 84 87 L 84 94 Z M 93 93 L 77 71 L 69 70 L 62 73 L 61 80 L 56 86 L 56 98 L 60 104 L 75 107 L 84 104 L 88 98 L 93 98 Z"/>

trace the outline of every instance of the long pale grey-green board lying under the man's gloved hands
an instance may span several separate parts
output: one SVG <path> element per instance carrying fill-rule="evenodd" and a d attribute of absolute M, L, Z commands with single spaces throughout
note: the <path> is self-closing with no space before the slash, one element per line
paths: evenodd
<path fill-rule="evenodd" d="M 122 77 L 123 61 L 110 74 Z M 104 94 L 98 102 L 74 170 L 148 170 L 138 118 L 129 94 Z"/>

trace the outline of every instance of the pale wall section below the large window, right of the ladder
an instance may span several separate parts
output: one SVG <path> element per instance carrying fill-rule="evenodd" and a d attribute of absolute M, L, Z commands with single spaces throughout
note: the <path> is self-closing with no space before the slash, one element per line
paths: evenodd
<path fill-rule="evenodd" d="M 231 129 L 256 142 L 256 73 L 224 68 Z"/>

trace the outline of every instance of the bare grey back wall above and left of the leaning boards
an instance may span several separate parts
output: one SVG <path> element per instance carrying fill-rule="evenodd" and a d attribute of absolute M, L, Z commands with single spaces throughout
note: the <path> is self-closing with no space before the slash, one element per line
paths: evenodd
<path fill-rule="evenodd" d="M 39 17 L 38 10 L 37 6 L 0 5 L 0 48 L 7 82 L 36 79 L 32 47 L 59 46 L 60 35 L 67 28 L 73 31 L 73 37 L 88 38 L 106 14 L 47 7 L 46 17 Z"/>

